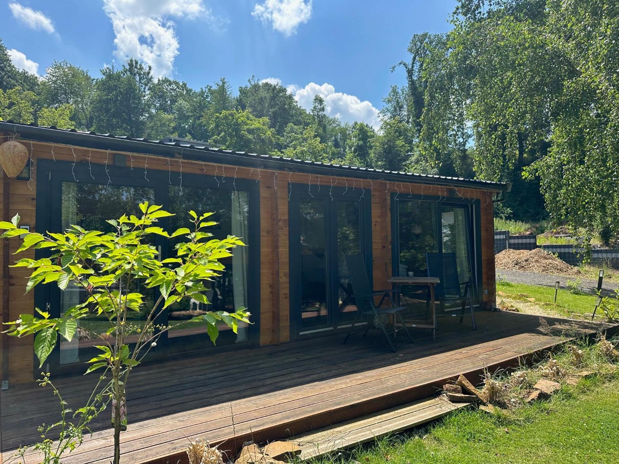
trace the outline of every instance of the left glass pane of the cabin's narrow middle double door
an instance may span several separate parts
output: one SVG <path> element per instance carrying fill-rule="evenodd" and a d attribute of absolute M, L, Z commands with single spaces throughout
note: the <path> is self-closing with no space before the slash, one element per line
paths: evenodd
<path fill-rule="evenodd" d="M 301 331 L 329 324 L 326 202 L 300 199 Z"/>

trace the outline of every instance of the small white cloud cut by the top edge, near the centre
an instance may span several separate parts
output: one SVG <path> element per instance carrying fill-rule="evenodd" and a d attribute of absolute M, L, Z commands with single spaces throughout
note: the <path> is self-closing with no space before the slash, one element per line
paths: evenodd
<path fill-rule="evenodd" d="M 297 26 L 311 18 L 312 0 L 265 0 L 256 4 L 251 13 L 264 24 L 269 22 L 274 30 L 290 36 L 297 32 Z"/>

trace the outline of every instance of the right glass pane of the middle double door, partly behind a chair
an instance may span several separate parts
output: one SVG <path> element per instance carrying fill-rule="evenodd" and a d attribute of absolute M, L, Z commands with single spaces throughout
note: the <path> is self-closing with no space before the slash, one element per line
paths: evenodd
<path fill-rule="evenodd" d="M 337 214 L 337 307 L 338 325 L 355 319 L 357 305 L 347 297 L 352 294 L 346 257 L 361 253 L 361 204 L 358 201 L 335 202 Z M 342 304 L 345 306 L 342 306 Z"/>

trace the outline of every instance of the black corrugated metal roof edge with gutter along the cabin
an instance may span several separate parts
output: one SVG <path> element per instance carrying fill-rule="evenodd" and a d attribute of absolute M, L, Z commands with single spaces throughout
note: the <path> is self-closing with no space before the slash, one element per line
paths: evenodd
<path fill-rule="evenodd" d="M 477 187 L 495 191 L 506 191 L 509 189 L 509 184 L 480 179 L 405 173 L 403 171 L 322 163 L 321 161 L 295 160 L 293 158 L 258 155 L 256 153 L 234 152 L 232 150 L 223 150 L 223 148 L 181 144 L 180 142 L 133 138 L 128 135 L 98 134 L 93 131 L 58 129 L 58 127 L 54 126 L 45 127 L 38 126 L 37 124 L 20 124 L 12 121 L 0 121 L 0 132 L 16 132 L 20 134 L 22 139 L 32 139 L 39 142 L 79 145 L 85 148 L 109 149 L 119 152 L 148 153 L 149 155 L 168 158 L 181 155 L 188 160 L 217 162 L 251 168 L 269 168 L 310 174 L 332 174 L 333 176 L 351 176 L 397 182 L 423 182 L 446 186 Z"/>

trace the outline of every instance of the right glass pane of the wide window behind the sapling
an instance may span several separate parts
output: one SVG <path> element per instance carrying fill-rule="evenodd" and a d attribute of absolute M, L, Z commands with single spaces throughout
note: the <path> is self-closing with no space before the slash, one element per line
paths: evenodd
<path fill-rule="evenodd" d="M 193 230 L 194 224 L 188 215 L 189 210 L 201 214 L 214 212 L 209 221 L 216 221 L 217 225 L 210 226 L 207 232 L 213 238 L 224 239 L 228 235 L 235 235 L 248 244 L 249 238 L 249 195 L 245 191 L 222 189 L 207 189 L 202 187 L 176 186 L 168 189 L 168 211 L 175 213 L 170 217 L 170 230 L 180 227 Z M 176 256 L 176 244 L 184 236 L 168 241 L 168 257 Z M 236 247 L 233 256 L 220 259 L 225 270 L 212 281 L 205 282 L 204 286 L 210 304 L 203 304 L 196 300 L 181 301 L 171 304 L 168 311 L 168 353 L 199 350 L 213 346 L 206 333 L 206 324 L 200 322 L 187 323 L 186 321 L 205 314 L 206 311 L 236 311 L 236 308 L 248 307 L 248 247 Z M 234 333 L 223 322 L 219 324 L 217 346 L 233 345 L 249 340 L 249 327 L 245 322 L 239 322 L 238 333 Z"/>

